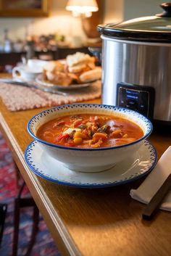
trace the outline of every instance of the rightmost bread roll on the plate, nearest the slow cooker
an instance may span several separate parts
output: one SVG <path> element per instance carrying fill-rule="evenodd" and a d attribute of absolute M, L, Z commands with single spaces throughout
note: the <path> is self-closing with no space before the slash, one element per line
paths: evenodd
<path fill-rule="evenodd" d="M 80 81 L 82 83 L 88 83 L 93 80 L 101 79 L 101 67 L 96 67 L 93 70 L 86 71 L 80 75 Z"/>

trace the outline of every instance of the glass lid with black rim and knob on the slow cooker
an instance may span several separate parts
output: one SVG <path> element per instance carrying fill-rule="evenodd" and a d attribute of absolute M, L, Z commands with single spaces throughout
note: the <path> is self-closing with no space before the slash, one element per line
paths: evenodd
<path fill-rule="evenodd" d="M 139 17 L 119 24 L 98 25 L 105 36 L 133 41 L 171 42 L 171 3 L 162 3 L 162 14 Z"/>

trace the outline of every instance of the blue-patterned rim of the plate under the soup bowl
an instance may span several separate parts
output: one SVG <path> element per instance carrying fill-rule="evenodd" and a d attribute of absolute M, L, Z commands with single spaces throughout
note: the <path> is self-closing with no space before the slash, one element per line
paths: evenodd
<path fill-rule="evenodd" d="M 42 173 L 38 172 L 38 170 L 36 170 L 34 168 L 33 162 L 29 161 L 29 159 L 28 159 L 28 156 L 30 154 L 30 150 L 33 150 L 31 148 L 33 146 L 35 146 L 35 144 L 38 144 L 37 141 L 32 141 L 27 146 L 27 148 L 25 149 L 25 162 L 28 165 L 28 168 L 30 168 L 30 170 L 32 170 L 33 173 L 35 173 L 37 176 L 40 176 L 41 178 L 45 179 L 46 181 L 51 181 L 53 183 L 61 184 L 61 185 L 64 185 L 64 186 L 74 186 L 74 187 L 78 187 L 78 188 L 97 188 L 97 189 L 98 188 L 110 187 L 110 186 L 118 186 L 118 185 L 122 185 L 122 184 L 125 184 L 125 183 L 130 183 L 132 181 L 138 180 L 139 178 L 148 174 L 154 168 L 154 166 L 157 164 L 157 151 L 156 151 L 156 149 L 154 148 L 154 146 L 149 141 L 145 140 L 144 143 L 148 144 L 151 147 L 150 152 L 151 152 L 151 158 L 153 160 L 151 167 L 148 170 L 144 171 L 142 174 L 138 175 L 138 176 L 135 176 L 133 178 L 127 178 L 125 180 L 117 181 L 117 182 L 109 182 L 109 183 L 70 183 L 70 182 L 67 182 L 67 181 L 59 181 L 57 179 L 49 178 L 48 176 L 44 176 Z"/>

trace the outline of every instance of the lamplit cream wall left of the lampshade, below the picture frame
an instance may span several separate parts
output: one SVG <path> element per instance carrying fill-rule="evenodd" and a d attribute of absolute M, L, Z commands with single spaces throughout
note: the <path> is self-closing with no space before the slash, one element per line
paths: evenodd
<path fill-rule="evenodd" d="M 24 1 L 24 0 L 23 0 Z M 0 41 L 3 40 L 4 28 L 9 30 L 9 38 L 13 41 L 25 39 L 26 35 L 42 35 L 61 33 L 67 36 L 81 36 L 83 33 L 80 18 L 72 17 L 71 12 L 65 10 L 67 0 L 51 0 L 49 17 L 43 18 L 0 18 Z"/>

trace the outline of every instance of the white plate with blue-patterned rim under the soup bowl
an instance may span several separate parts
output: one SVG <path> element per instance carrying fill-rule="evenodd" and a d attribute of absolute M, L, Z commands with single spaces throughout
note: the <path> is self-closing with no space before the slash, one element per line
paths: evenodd
<path fill-rule="evenodd" d="M 149 173 L 157 162 L 157 152 L 149 141 L 113 168 L 99 173 L 81 173 L 70 170 L 62 162 L 46 154 L 36 141 L 32 141 L 25 149 L 25 161 L 36 175 L 47 181 L 67 186 L 78 187 L 107 187 L 128 183 Z"/>

